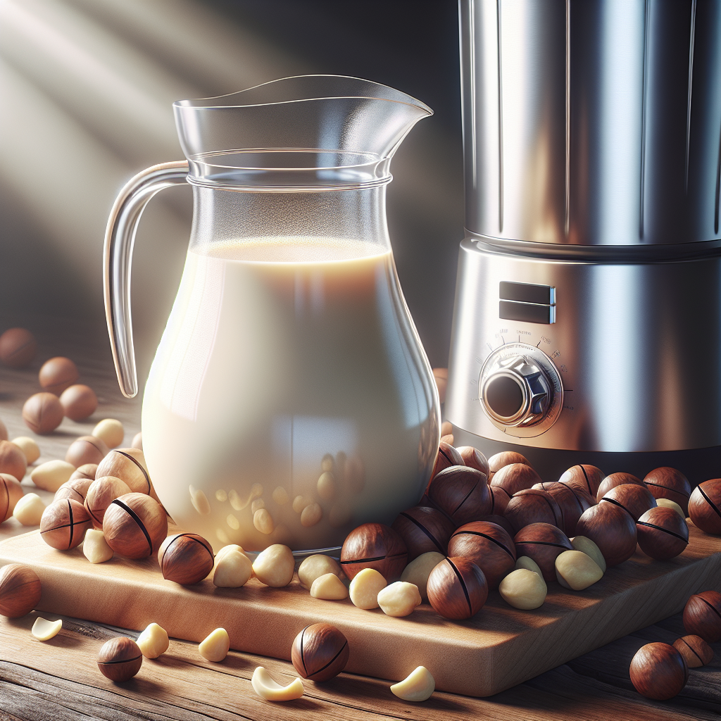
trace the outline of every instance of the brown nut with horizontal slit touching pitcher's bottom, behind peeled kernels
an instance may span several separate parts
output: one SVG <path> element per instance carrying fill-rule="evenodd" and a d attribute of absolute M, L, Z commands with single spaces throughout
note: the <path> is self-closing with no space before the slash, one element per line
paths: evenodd
<path fill-rule="evenodd" d="M 403 539 L 383 523 L 363 523 L 354 528 L 340 549 L 340 567 L 349 579 L 364 568 L 373 568 L 390 583 L 400 578 L 407 561 Z"/>

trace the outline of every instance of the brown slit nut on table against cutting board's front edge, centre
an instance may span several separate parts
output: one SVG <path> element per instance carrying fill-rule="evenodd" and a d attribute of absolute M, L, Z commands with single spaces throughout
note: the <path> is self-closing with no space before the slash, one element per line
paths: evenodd
<path fill-rule="evenodd" d="M 291 661 L 298 676 L 322 683 L 337 676 L 348 663 L 348 640 L 331 624 L 310 624 L 293 640 Z"/>

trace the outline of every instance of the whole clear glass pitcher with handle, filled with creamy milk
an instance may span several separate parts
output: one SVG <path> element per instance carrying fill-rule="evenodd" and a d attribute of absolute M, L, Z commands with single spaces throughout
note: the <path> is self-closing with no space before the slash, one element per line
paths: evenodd
<path fill-rule="evenodd" d="M 105 239 L 120 389 L 137 393 L 130 265 L 138 220 L 193 185 L 185 270 L 143 397 L 143 448 L 174 521 L 218 549 L 337 548 L 417 503 L 438 392 L 386 227 L 389 164 L 432 111 L 343 76 L 174 104 L 187 161 L 126 185 Z"/>

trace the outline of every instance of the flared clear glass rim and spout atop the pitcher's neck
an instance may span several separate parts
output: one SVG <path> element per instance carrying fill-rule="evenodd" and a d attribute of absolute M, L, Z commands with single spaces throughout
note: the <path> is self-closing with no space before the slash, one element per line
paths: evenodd
<path fill-rule="evenodd" d="M 340 75 L 274 80 L 173 105 L 193 185 L 342 190 L 385 185 L 390 161 L 428 105 Z"/>

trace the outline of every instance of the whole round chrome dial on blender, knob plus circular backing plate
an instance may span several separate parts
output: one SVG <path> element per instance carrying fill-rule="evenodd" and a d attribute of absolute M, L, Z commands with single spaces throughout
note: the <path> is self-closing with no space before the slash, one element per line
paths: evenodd
<path fill-rule="evenodd" d="M 486 358 L 478 391 L 492 423 L 518 437 L 544 433 L 563 406 L 563 386 L 553 361 L 525 343 L 507 343 Z"/>

